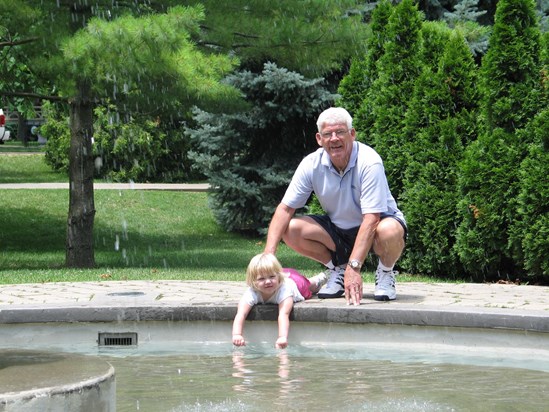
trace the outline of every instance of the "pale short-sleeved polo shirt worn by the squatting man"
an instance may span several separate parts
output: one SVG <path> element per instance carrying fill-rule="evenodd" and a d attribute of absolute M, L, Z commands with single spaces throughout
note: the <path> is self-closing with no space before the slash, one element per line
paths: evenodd
<path fill-rule="evenodd" d="M 297 167 L 282 203 L 299 209 L 314 192 L 331 221 L 341 229 L 360 226 L 362 215 L 404 216 L 389 190 L 383 161 L 370 146 L 353 142 L 349 164 L 340 174 L 323 148 L 307 155 Z"/>

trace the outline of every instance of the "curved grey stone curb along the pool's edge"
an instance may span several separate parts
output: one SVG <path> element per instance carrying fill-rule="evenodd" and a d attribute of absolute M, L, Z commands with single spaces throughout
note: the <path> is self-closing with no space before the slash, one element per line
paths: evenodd
<path fill-rule="evenodd" d="M 45 322 L 123 322 L 123 321 L 232 321 L 235 304 L 194 304 L 177 306 L 88 306 L 13 308 L 0 311 L 0 324 Z M 276 305 L 254 307 L 248 320 L 276 321 Z M 502 309 L 437 309 L 369 306 L 308 306 L 296 304 L 294 322 L 350 324 L 392 324 L 462 328 L 513 329 L 549 333 L 549 318 L 536 312 Z"/>

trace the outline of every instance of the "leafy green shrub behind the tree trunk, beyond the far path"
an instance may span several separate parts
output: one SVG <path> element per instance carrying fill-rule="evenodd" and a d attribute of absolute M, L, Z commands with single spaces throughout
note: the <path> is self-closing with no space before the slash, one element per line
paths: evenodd
<path fill-rule="evenodd" d="M 47 122 L 41 132 L 48 138 L 46 161 L 54 170 L 68 171 L 70 130 L 68 117 L 46 106 Z M 189 181 L 203 178 L 191 171 L 190 141 L 182 127 L 160 121 L 128 118 L 122 121 L 113 106 L 94 110 L 96 178 L 118 182 Z"/>

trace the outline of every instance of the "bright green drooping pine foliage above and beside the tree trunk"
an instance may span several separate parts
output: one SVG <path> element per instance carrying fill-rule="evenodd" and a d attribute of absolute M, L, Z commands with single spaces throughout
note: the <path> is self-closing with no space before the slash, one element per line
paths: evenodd
<path fill-rule="evenodd" d="M 71 62 L 66 93 L 71 95 L 75 79 L 89 79 L 97 99 L 155 116 L 230 97 L 233 89 L 219 80 L 236 60 L 196 48 L 192 35 L 203 19 L 199 6 L 114 21 L 91 19 L 61 46 Z"/>

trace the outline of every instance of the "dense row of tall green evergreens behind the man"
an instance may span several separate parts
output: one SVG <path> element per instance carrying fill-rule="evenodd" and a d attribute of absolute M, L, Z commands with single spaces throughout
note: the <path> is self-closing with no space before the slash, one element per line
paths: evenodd
<path fill-rule="evenodd" d="M 458 21 L 423 21 L 411 9 L 397 17 L 405 6 L 391 6 L 379 29 L 382 53 L 368 48 L 340 85 L 344 106 L 356 110 L 363 98 L 356 126 L 382 155 L 408 220 L 399 264 L 475 281 L 547 281 L 547 35 L 534 2 L 498 3 L 481 68 Z"/>

